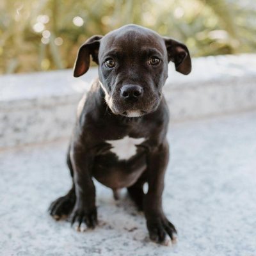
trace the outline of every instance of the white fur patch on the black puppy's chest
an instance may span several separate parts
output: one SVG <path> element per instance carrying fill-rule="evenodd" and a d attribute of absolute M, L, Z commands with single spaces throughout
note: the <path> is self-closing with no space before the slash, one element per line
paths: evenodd
<path fill-rule="evenodd" d="M 127 160 L 136 154 L 136 145 L 140 145 L 145 141 L 145 138 L 130 138 L 125 136 L 120 140 L 107 140 L 106 142 L 111 144 L 111 152 L 118 156 L 120 160 Z"/>

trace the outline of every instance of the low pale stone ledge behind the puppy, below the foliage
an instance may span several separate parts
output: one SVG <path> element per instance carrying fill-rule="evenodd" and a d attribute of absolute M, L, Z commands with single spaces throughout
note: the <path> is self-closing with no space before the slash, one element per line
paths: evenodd
<path fill-rule="evenodd" d="M 189 76 L 169 67 L 164 86 L 172 120 L 234 113 L 256 108 L 256 54 L 193 59 Z M 91 68 L 74 78 L 72 70 L 0 77 L 0 148 L 70 136 L 76 106 L 97 77 Z"/>

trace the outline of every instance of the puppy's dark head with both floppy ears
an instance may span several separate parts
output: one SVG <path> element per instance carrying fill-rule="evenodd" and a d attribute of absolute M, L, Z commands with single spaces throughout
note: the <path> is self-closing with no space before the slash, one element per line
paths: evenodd
<path fill-rule="evenodd" d="M 182 74 L 191 71 L 186 45 L 136 25 L 89 38 L 77 53 L 75 77 L 87 72 L 90 55 L 99 65 L 100 86 L 116 115 L 141 116 L 157 109 L 169 61 Z"/>

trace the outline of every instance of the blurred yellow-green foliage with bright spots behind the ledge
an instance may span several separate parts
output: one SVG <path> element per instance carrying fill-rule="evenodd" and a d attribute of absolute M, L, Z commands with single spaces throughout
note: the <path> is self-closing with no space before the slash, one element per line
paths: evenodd
<path fill-rule="evenodd" d="M 0 73 L 70 68 L 86 38 L 129 23 L 192 56 L 253 52 L 255 17 L 254 0 L 1 0 Z"/>

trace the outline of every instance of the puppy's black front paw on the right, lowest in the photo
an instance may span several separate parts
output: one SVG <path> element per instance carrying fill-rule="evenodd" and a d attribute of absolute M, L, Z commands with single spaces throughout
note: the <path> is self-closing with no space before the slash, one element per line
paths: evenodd
<path fill-rule="evenodd" d="M 167 235 L 174 241 L 174 235 L 177 234 L 175 227 L 165 216 L 150 218 L 147 220 L 147 228 L 150 239 L 156 243 L 166 243 Z"/>

